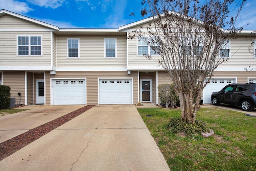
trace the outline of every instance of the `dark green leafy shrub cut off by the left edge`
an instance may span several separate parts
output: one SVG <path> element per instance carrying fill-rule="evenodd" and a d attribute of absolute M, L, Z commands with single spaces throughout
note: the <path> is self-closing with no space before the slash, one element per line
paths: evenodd
<path fill-rule="evenodd" d="M 0 85 L 0 109 L 6 109 L 10 105 L 11 88 L 7 85 Z"/>

